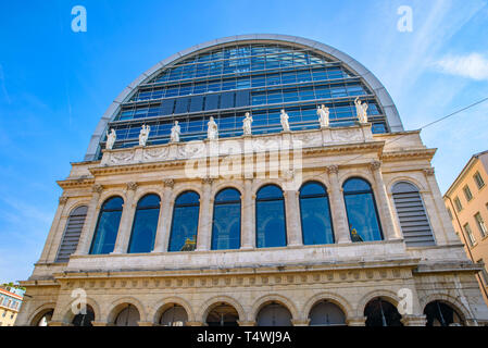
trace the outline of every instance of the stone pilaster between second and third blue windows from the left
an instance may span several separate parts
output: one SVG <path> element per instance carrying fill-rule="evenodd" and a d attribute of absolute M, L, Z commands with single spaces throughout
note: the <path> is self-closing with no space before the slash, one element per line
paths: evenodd
<path fill-rule="evenodd" d="M 164 179 L 163 199 L 160 208 L 160 217 L 158 220 L 158 231 L 155 233 L 153 252 L 167 251 L 170 240 L 171 220 L 173 214 L 172 192 L 175 182 L 171 178 Z"/>

